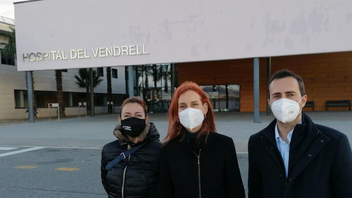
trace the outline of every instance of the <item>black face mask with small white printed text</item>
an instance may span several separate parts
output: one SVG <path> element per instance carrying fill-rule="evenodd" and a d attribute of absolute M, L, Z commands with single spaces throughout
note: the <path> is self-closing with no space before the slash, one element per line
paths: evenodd
<path fill-rule="evenodd" d="M 136 117 L 121 120 L 122 132 L 130 137 L 137 137 L 145 129 L 145 119 Z"/>

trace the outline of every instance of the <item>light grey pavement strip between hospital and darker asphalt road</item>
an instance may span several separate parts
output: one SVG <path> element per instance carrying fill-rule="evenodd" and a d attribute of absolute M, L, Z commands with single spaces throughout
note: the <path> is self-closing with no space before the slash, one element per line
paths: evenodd
<path fill-rule="evenodd" d="M 307 112 L 313 122 L 337 129 L 352 140 L 352 111 Z M 0 145 L 89 147 L 101 148 L 115 140 L 112 131 L 118 124 L 118 115 L 52 120 L 37 123 L 22 123 L 0 126 Z M 260 114 L 260 123 L 253 123 L 253 113 L 215 113 L 216 128 L 220 134 L 233 138 L 237 151 L 247 151 L 249 137 L 265 128 L 274 116 Z M 155 123 L 161 140 L 166 135 L 166 113 L 149 114 Z"/>

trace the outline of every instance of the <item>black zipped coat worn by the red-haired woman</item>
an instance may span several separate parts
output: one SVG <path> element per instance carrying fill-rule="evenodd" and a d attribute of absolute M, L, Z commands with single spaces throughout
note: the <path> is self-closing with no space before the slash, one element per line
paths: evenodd
<path fill-rule="evenodd" d="M 193 148 L 181 134 L 161 149 L 159 198 L 245 198 L 232 138 L 210 132 Z"/>

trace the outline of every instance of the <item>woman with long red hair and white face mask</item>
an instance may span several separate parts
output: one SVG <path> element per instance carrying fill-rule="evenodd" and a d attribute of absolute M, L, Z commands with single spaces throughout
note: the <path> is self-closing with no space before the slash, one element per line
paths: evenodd
<path fill-rule="evenodd" d="M 245 197 L 233 140 L 216 133 L 212 104 L 194 82 L 182 83 L 171 100 L 159 197 Z"/>

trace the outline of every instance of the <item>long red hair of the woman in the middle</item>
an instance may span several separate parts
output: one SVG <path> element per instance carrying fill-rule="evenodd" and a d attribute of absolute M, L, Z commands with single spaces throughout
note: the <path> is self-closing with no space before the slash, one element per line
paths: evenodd
<path fill-rule="evenodd" d="M 183 126 L 179 123 L 178 121 L 178 99 L 180 98 L 180 95 L 187 91 L 195 91 L 201 98 L 202 104 L 207 103 L 208 104 L 208 112 L 206 114 L 206 118 L 203 121 L 202 128 L 199 131 L 199 134 L 197 135 L 197 138 L 199 138 L 202 134 L 209 134 L 210 132 L 216 132 L 215 128 L 215 120 L 214 120 L 214 111 L 213 111 L 213 105 L 210 102 L 209 98 L 205 94 L 202 88 L 199 87 L 194 82 L 186 81 L 183 82 L 180 87 L 178 87 L 175 91 L 174 96 L 172 97 L 171 104 L 169 107 L 169 128 L 168 128 L 168 133 L 166 134 L 166 137 L 164 138 L 164 144 L 167 144 L 168 141 L 174 139 L 176 136 L 178 136 L 181 133 L 181 129 Z M 185 134 L 182 135 L 183 140 L 185 137 Z"/>

